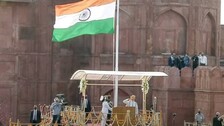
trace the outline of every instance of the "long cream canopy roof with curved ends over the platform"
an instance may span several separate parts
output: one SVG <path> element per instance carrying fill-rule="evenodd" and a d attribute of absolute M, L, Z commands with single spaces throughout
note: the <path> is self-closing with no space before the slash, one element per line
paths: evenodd
<path fill-rule="evenodd" d="M 78 70 L 71 80 L 109 80 L 113 81 L 118 76 L 119 81 L 140 81 L 143 78 L 150 79 L 153 76 L 168 76 L 164 72 L 141 72 L 141 71 L 99 71 L 99 70 Z"/>

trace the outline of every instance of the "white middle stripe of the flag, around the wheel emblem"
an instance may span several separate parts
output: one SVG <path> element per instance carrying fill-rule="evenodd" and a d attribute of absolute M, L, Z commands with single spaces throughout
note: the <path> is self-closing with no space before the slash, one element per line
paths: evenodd
<path fill-rule="evenodd" d="M 115 2 L 101 6 L 90 7 L 89 9 L 91 11 L 91 16 L 88 20 L 86 21 L 79 20 L 79 15 L 81 14 L 81 12 L 69 15 L 62 15 L 56 17 L 54 28 L 68 28 L 78 22 L 101 20 L 112 18 L 115 16 Z"/>

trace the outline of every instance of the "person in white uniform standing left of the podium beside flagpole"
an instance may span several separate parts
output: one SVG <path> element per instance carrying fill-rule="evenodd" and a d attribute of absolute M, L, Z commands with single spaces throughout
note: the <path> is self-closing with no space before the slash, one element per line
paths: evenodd
<path fill-rule="evenodd" d="M 109 106 L 109 103 L 106 100 L 106 98 L 103 98 L 102 110 L 101 110 L 101 112 L 102 112 L 101 126 L 106 126 L 108 110 L 112 111 L 112 108 Z"/>

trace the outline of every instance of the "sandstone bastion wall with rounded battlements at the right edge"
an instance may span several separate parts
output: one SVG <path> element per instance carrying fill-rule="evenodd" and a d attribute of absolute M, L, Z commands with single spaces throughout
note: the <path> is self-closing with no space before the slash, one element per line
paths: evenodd
<path fill-rule="evenodd" d="M 195 112 L 202 109 L 206 122 L 218 111 L 224 114 L 223 109 L 223 68 L 201 67 L 196 71 L 195 83 Z"/>

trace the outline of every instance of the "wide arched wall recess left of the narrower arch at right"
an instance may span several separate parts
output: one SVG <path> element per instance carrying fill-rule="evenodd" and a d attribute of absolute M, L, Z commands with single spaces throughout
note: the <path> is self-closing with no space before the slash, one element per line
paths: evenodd
<path fill-rule="evenodd" d="M 153 30 L 153 54 L 184 54 L 186 51 L 186 22 L 169 10 L 158 17 Z"/>

